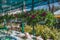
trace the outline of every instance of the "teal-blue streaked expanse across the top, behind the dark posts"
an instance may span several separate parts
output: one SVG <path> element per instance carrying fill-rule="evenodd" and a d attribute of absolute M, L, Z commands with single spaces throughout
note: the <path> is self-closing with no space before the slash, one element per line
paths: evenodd
<path fill-rule="evenodd" d="M 53 3 L 52 0 L 49 0 L 50 3 Z M 54 0 L 58 2 L 58 0 Z M 34 0 L 34 7 L 46 5 L 48 0 Z M 14 10 L 17 8 L 22 8 L 25 4 L 26 9 L 32 7 L 32 0 L 0 0 L 0 13 Z"/>

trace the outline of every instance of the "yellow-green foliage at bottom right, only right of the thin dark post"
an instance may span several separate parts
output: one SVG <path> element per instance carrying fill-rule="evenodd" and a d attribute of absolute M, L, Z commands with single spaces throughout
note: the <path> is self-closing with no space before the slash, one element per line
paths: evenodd
<path fill-rule="evenodd" d="M 52 27 L 37 25 L 36 27 L 36 34 L 41 35 L 45 40 L 47 39 L 58 39 L 58 30 Z"/>

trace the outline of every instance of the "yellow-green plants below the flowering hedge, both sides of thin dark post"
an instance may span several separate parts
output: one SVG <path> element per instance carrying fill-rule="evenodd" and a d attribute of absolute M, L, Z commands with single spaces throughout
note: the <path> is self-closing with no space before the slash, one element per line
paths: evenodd
<path fill-rule="evenodd" d="M 54 27 L 48 27 L 46 25 L 37 24 L 35 27 L 35 35 L 41 36 L 44 40 L 52 39 L 59 40 L 60 39 L 60 31 Z M 25 32 L 32 34 L 32 26 L 25 25 Z"/>

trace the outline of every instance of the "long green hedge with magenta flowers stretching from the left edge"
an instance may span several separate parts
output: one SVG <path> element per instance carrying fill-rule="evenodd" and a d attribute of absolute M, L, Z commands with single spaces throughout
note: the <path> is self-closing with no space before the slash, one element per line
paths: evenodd
<path fill-rule="evenodd" d="M 12 14 L 12 15 L 4 15 L 0 17 L 0 23 L 3 22 L 4 19 L 7 21 L 10 19 L 15 19 L 15 18 L 20 18 L 22 21 L 27 22 L 28 24 L 36 24 L 36 23 L 41 23 L 45 25 L 54 25 L 55 24 L 55 18 L 53 13 L 45 10 L 35 10 L 35 11 L 30 11 L 30 12 L 22 12 L 22 13 L 17 13 L 17 14 Z"/>

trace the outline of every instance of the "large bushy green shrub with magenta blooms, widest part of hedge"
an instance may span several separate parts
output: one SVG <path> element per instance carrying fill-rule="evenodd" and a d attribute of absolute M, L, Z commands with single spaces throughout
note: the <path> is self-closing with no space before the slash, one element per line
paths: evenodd
<path fill-rule="evenodd" d="M 22 18 L 28 23 L 28 24 L 46 24 L 46 25 L 53 25 L 55 18 L 54 15 L 51 12 L 44 11 L 44 10 L 38 10 L 29 13 L 21 13 Z"/>

